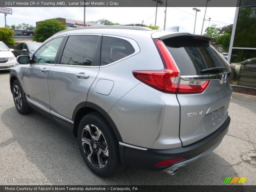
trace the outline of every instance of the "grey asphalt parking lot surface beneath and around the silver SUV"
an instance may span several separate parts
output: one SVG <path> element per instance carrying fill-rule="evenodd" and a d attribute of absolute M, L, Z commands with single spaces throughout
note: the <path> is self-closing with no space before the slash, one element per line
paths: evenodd
<path fill-rule="evenodd" d="M 0 71 L 0 98 L 0 185 L 26 184 L 6 183 L 11 177 L 62 180 L 27 183 L 40 185 L 223 185 L 228 176 L 248 177 L 244 185 L 256 185 L 256 101 L 233 97 L 231 124 L 220 146 L 177 174 L 129 168 L 102 179 L 87 168 L 70 132 L 37 112 L 17 112 L 9 71 Z"/>

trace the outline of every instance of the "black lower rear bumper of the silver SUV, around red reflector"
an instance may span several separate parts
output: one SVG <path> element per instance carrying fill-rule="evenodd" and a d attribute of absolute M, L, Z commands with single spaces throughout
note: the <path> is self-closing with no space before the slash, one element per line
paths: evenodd
<path fill-rule="evenodd" d="M 185 147 L 164 150 L 140 150 L 120 145 L 119 150 L 122 164 L 155 171 L 170 171 L 175 168 L 186 166 L 217 148 L 228 132 L 229 123 L 230 117 L 228 116 L 225 123 L 222 124 L 218 130 L 206 138 Z M 155 164 L 160 161 L 179 157 L 183 157 L 183 160 L 168 166 L 155 166 Z"/>

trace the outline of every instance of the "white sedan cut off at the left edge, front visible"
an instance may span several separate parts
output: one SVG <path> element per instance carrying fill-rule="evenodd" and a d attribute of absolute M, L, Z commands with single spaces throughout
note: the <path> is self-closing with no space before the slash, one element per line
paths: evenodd
<path fill-rule="evenodd" d="M 16 65 L 16 57 L 12 51 L 14 50 L 0 41 L 0 70 L 11 70 Z"/>

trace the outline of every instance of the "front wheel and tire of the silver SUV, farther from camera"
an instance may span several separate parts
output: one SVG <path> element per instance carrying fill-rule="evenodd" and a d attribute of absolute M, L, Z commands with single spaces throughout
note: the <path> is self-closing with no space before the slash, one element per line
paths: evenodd
<path fill-rule="evenodd" d="M 23 89 L 21 88 L 20 83 L 17 80 L 15 80 L 12 84 L 12 96 L 15 107 L 20 114 L 29 114 L 33 111 L 33 109 L 30 108 L 26 103 Z"/>

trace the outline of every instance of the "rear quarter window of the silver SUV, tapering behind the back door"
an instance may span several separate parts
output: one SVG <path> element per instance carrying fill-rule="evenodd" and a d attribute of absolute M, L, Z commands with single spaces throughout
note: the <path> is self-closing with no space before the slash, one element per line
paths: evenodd
<path fill-rule="evenodd" d="M 134 48 L 128 41 L 116 37 L 103 36 L 100 65 L 108 65 L 134 52 Z"/>

